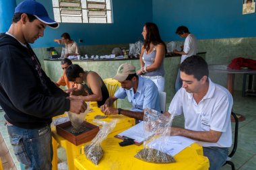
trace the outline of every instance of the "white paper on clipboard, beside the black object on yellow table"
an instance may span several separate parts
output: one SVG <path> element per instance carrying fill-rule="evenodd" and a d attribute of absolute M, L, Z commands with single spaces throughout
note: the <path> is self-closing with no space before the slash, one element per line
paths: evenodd
<path fill-rule="evenodd" d="M 146 136 L 146 133 L 144 131 L 144 122 L 140 122 L 139 124 L 136 124 L 135 126 L 121 132 L 118 135 L 126 136 L 128 138 L 133 138 L 135 140 L 135 142 L 140 143 L 140 142 L 143 142 L 144 140 L 146 140 L 146 138 L 148 138 L 152 134 L 148 134 L 148 136 Z"/>

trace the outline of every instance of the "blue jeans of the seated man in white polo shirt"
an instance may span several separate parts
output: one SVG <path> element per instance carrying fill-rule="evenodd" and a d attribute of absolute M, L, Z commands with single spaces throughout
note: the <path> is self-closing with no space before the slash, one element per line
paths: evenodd
<path fill-rule="evenodd" d="M 209 170 L 218 170 L 224 165 L 228 157 L 228 148 L 203 147 L 203 156 L 210 161 Z"/>

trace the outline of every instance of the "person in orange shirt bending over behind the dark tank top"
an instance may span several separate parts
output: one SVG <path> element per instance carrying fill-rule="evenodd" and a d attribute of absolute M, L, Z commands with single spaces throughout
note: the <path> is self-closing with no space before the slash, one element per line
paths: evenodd
<path fill-rule="evenodd" d="M 64 58 L 63 60 L 61 60 L 61 69 L 63 69 L 63 75 L 59 78 L 55 85 L 57 85 L 57 87 L 61 85 L 67 85 L 67 90 L 65 90 L 66 93 L 72 92 L 73 94 L 79 94 L 79 90 L 82 89 L 82 85 L 74 83 L 73 81 L 69 81 L 67 79 L 66 69 L 70 65 L 72 65 L 72 62 L 71 60 L 69 60 L 69 58 Z"/>

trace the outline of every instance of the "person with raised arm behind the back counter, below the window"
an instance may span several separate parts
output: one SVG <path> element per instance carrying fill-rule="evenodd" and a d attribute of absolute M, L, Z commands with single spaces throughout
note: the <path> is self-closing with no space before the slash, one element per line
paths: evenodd
<path fill-rule="evenodd" d="M 55 39 L 54 41 L 58 42 L 58 44 L 65 44 L 65 57 L 76 56 L 80 54 L 77 43 L 74 40 L 71 40 L 67 32 L 61 35 L 61 39 Z"/>

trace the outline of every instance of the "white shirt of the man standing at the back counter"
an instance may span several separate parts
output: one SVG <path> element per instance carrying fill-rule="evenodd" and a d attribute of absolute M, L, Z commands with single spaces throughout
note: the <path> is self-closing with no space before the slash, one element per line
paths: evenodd
<path fill-rule="evenodd" d="M 187 57 L 197 54 L 197 50 L 197 38 L 195 38 L 194 34 L 189 34 L 185 39 L 183 48 L 183 51 L 187 54 L 183 54 L 181 56 L 181 62 L 183 62 Z"/>

